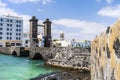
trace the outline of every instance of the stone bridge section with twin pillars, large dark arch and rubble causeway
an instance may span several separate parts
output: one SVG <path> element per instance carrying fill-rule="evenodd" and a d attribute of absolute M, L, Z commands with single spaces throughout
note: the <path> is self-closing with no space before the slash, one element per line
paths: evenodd
<path fill-rule="evenodd" d="M 30 19 L 30 58 L 47 60 L 49 65 L 90 70 L 90 48 L 51 47 L 51 23 L 46 19 L 39 25 L 35 16 Z M 44 27 L 44 48 L 37 45 L 38 26 Z"/>

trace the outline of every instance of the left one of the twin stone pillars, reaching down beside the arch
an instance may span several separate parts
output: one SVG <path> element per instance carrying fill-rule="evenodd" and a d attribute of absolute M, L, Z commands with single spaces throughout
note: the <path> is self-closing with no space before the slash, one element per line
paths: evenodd
<path fill-rule="evenodd" d="M 38 46 L 38 39 L 37 39 L 37 22 L 35 16 L 30 19 L 30 58 L 35 53 L 35 48 Z"/>

